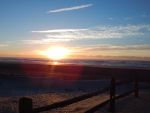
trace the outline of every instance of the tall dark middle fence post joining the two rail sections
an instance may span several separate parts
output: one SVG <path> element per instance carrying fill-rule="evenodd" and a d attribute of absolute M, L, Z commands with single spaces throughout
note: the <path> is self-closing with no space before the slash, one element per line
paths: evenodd
<path fill-rule="evenodd" d="M 115 78 L 111 79 L 110 83 L 110 103 L 109 103 L 109 111 L 115 113 L 115 92 L 116 92 L 116 80 Z"/>

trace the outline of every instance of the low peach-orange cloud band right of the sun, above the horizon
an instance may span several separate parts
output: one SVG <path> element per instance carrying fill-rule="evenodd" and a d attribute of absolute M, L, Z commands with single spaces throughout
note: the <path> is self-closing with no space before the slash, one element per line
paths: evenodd
<path fill-rule="evenodd" d="M 102 45 L 91 45 L 91 46 L 79 46 L 72 47 L 73 55 L 83 55 L 85 57 L 97 57 L 101 56 L 133 56 L 138 57 L 150 57 L 150 45 L 148 44 L 139 44 L 139 45 L 111 45 L 111 44 L 102 44 Z"/>

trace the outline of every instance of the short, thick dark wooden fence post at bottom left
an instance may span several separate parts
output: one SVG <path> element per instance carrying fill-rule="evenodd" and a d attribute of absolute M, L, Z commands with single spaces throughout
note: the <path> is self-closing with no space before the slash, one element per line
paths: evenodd
<path fill-rule="evenodd" d="M 33 113 L 32 99 L 22 97 L 19 100 L 19 113 Z"/>

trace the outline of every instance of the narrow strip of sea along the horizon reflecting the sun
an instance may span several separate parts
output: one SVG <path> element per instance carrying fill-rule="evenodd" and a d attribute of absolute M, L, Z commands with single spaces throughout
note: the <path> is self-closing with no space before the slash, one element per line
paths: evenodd
<path fill-rule="evenodd" d="M 121 67 L 150 67 L 150 61 L 136 60 L 60 60 L 50 61 L 48 59 L 32 58 L 0 58 L 0 62 L 32 62 L 46 64 L 81 64 L 94 66 L 121 66 Z"/>

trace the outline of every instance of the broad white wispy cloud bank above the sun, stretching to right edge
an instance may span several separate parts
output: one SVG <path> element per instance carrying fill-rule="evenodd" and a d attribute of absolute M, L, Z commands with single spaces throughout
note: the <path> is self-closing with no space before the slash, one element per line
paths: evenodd
<path fill-rule="evenodd" d="M 28 40 L 33 43 L 63 42 L 85 39 L 139 37 L 150 34 L 150 25 L 98 26 L 84 29 L 51 29 L 32 31 L 35 35 L 45 37 L 39 40 Z M 24 40 L 26 41 L 26 40 Z"/>

